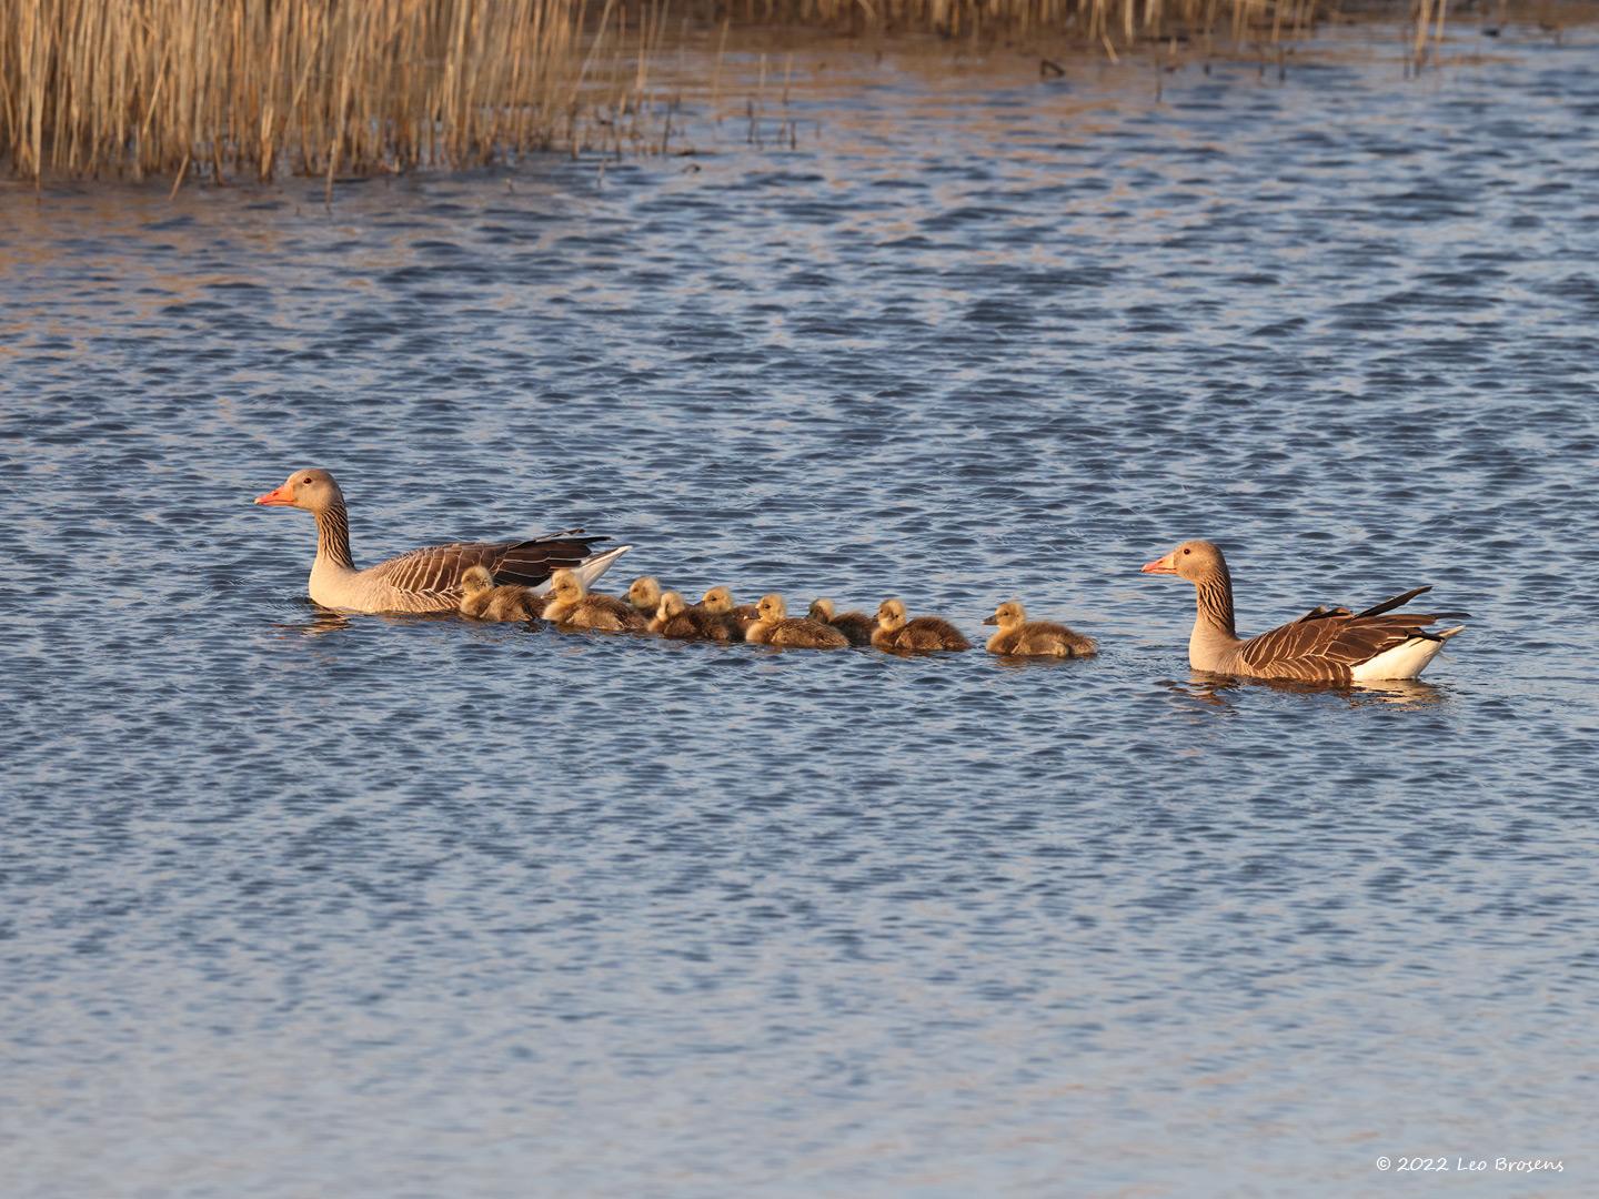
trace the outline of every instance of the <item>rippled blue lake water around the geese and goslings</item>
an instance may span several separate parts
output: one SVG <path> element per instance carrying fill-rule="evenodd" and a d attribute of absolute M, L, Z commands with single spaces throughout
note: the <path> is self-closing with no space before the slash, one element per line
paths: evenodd
<path fill-rule="evenodd" d="M 1461 30 L 1159 102 L 801 54 L 753 137 L 731 64 L 694 157 L 331 208 L 8 185 L 0 1191 L 1594 1194 L 1596 37 Z M 1103 654 L 329 620 L 249 504 L 301 465 L 358 561 L 584 524 Z M 1244 631 L 1468 631 L 1215 686 L 1138 574 L 1194 536 Z"/>

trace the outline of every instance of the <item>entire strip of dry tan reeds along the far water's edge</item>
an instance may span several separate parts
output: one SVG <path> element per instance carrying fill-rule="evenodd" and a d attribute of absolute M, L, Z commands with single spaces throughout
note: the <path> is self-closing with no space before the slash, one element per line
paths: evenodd
<path fill-rule="evenodd" d="M 670 0 L 0 0 L 0 157 L 214 179 L 467 166 L 644 142 Z M 1415 59 L 1449 0 L 1409 0 Z M 680 0 L 673 21 L 1065 37 L 1118 58 L 1308 32 L 1318 0 Z"/>

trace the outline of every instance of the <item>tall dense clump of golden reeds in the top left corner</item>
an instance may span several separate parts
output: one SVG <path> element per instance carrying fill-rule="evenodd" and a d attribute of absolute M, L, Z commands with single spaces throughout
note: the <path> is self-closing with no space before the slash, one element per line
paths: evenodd
<path fill-rule="evenodd" d="M 585 72 L 660 29 L 608 50 L 620 22 L 584 19 L 584 0 L 0 0 L 0 155 L 35 179 L 267 179 L 577 147 Z"/>

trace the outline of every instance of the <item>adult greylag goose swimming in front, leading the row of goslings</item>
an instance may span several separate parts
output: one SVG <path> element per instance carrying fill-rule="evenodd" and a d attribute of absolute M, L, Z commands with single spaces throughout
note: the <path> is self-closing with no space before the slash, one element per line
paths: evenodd
<path fill-rule="evenodd" d="M 486 566 L 504 584 L 539 590 L 561 566 L 593 582 L 632 548 L 617 545 L 595 553 L 593 544 L 604 537 L 584 537 L 582 529 L 568 529 L 521 542 L 429 545 L 358 571 L 350 558 L 344 492 L 326 470 L 296 470 L 283 486 L 256 496 L 256 504 L 304 508 L 317 518 L 310 598 L 342 612 L 453 612 L 461 604 L 461 577 L 470 566 Z"/>

